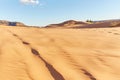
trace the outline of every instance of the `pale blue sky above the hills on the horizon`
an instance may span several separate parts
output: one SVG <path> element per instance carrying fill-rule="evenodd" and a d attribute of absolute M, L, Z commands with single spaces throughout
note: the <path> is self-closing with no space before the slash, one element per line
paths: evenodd
<path fill-rule="evenodd" d="M 0 19 L 39 26 L 66 20 L 120 19 L 120 0 L 0 0 Z"/>

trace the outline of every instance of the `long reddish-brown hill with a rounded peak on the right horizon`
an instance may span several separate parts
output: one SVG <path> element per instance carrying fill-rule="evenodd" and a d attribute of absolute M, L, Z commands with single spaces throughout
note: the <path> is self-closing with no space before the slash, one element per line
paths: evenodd
<path fill-rule="evenodd" d="M 92 22 L 69 20 L 62 23 L 45 26 L 45 28 L 106 28 L 106 27 L 107 28 L 120 27 L 120 19 L 101 20 Z"/>

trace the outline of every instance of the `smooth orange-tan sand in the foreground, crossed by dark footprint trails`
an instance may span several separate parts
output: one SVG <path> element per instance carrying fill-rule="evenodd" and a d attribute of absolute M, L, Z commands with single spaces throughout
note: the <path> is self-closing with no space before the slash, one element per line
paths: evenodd
<path fill-rule="evenodd" d="M 0 27 L 0 80 L 120 80 L 120 28 Z"/>

